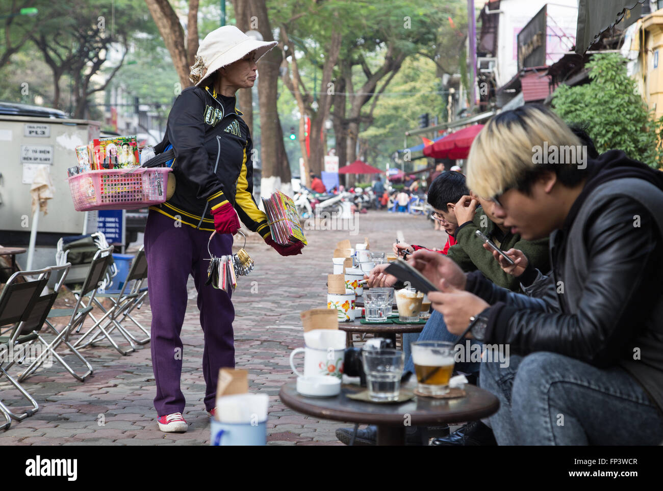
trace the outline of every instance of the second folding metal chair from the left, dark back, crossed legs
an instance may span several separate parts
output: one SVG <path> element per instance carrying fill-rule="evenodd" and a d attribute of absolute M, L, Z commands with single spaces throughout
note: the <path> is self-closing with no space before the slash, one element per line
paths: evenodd
<path fill-rule="evenodd" d="M 81 355 L 76 348 L 74 348 L 71 343 L 68 341 L 68 339 L 64 339 L 66 334 L 62 331 L 56 330 L 50 322 L 48 322 L 48 317 L 54 317 L 56 315 L 69 315 L 67 312 L 69 309 L 52 309 L 53 304 L 55 303 L 56 298 L 58 298 L 58 294 L 60 292 L 60 289 L 62 288 L 62 285 L 65 282 L 65 279 L 67 277 L 67 273 L 69 271 L 70 264 L 67 263 L 66 265 L 62 266 L 52 266 L 50 267 L 50 270 L 52 273 L 56 273 L 58 271 L 62 271 L 62 275 L 60 277 L 60 280 L 56 284 L 54 290 L 52 293 L 42 295 L 39 298 L 37 298 L 34 308 L 32 309 L 32 313 L 30 314 L 30 317 L 25 320 L 21 326 L 22 332 L 26 332 L 27 330 L 34 332 L 34 334 L 37 335 L 36 339 L 30 341 L 30 345 L 34 345 L 36 342 L 40 342 L 42 345 L 42 350 L 39 353 L 39 355 L 30 362 L 30 365 L 19 375 L 18 380 L 19 382 L 23 382 L 23 380 L 27 379 L 38 367 L 44 364 L 44 361 L 48 359 L 48 357 L 54 357 L 57 361 L 62 364 L 64 369 L 68 371 L 72 376 L 74 376 L 75 379 L 80 380 L 81 382 L 86 379 L 86 377 L 89 377 L 92 373 L 92 365 Z M 62 312 L 65 312 L 65 314 L 62 314 Z M 73 313 L 72 313 L 73 315 Z M 70 316 L 71 319 L 71 316 Z M 48 326 L 48 328 L 54 332 L 56 335 L 54 339 L 52 339 L 50 342 L 45 339 L 42 336 L 42 326 Z M 64 331 L 64 330 L 63 330 Z M 58 345 L 61 343 L 64 343 L 70 351 L 76 356 L 86 367 L 87 371 L 83 375 L 78 375 L 72 367 L 62 359 L 62 357 L 57 353 L 55 350 Z M 21 359 L 17 361 L 19 364 L 23 364 L 25 361 L 24 359 Z M 10 365 L 11 366 L 11 365 Z"/>

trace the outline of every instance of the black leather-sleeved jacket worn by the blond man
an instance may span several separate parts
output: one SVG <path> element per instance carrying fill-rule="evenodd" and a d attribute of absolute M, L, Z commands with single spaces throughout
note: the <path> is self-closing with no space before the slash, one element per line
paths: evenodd
<path fill-rule="evenodd" d="M 620 365 L 663 410 L 662 223 L 663 193 L 654 185 L 619 179 L 597 187 L 550 236 L 553 270 L 538 298 L 469 273 L 466 289 L 492 305 L 484 342 Z"/>

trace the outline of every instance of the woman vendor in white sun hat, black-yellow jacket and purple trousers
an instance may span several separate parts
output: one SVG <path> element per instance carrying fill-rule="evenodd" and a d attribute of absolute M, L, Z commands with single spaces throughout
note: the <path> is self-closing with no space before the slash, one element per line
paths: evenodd
<path fill-rule="evenodd" d="M 184 394 L 180 390 L 186 283 L 194 277 L 200 325 L 204 333 L 205 408 L 213 416 L 219 369 L 235 367 L 230 292 L 205 285 L 210 251 L 232 253 L 239 220 L 261 234 L 280 255 L 296 255 L 297 242 L 280 246 L 272 240 L 267 216 L 253 199 L 253 165 L 249 127 L 235 108 L 235 92 L 253 87 L 256 62 L 276 42 L 249 38 L 235 26 L 213 30 L 201 42 L 188 87 L 176 99 L 166 127 L 162 152 L 171 144 L 176 187 L 168 201 L 151 206 L 145 228 L 148 287 L 152 308 L 152 367 L 156 382 L 154 408 L 161 431 L 183 432 Z M 211 232 L 213 234 L 211 240 Z M 231 290 L 231 289 L 230 289 Z"/>

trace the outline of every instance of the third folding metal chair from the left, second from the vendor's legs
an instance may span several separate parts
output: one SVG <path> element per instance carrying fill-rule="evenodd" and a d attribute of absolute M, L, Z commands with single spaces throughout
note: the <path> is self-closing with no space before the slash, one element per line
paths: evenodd
<path fill-rule="evenodd" d="M 109 323 L 113 322 L 112 319 L 109 319 L 111 317 L 111 314 L 113 314 L 115 309 L 108 310 L 97 320 L 92 314 L 91 310 L 93 306 L 99 305 L 99 302 L 95 302 L 95 296 L 97 294 L 97 289 L 99 289 L 99 283 L 101 283 L 103 276 L 105 275 L 106 269 L 111 265 L 113 261 L 113 256 L 111 255 L 111 251 L 113 250 L 113 247 L 109 247 L 108 249 L 101 249 L 97 251 L 97 253 L 94 256 L 94 259 L 92 260 L 92 263 L 90 265 L 90 273 L 88 273 L 88 277 L 86 278 L 86 281 L 83 283 L 83 287 L 78 290 L 74 291 L 74 295 L 76 296 L 76 306 L 84 305 L 84 312 L 85 312 L 85 317 L 90 316 L 90 318 L 94 321 L 93 326 L 91 326 L 88 331 L 83 334 L 81 337 L 79 337 L 75 343 L 73 343 L 73 347 L 83 347 L 83 346 L 88 346 L 91 344 L 92 340 L 95 340 L 95 337 L 99 334 L 103 334 L 103 336 L 110 341 L 111 345 L 119 351 L 122 355 L 128 355 L 132 351 L 136 350 L 136 345 L 133 343 L 131 340 L 131 337 L 127 334 L 127 331 L 118 324 L 114 324 L 115 327 L 117 327 L 118 331 L 120 334 L 127 340 L 129 343 L 130 348 L 128 350 L 124 350 L 117 343 L 115 342 L 115 339 L 109 334 L 109 332 L 106 330 L 106 327 L 108 326 Z M 105 253 L 105 255 L 103 255 Z M 83 299 L 88 297 L 87 302 L 83 302 Z M 102 308 L 103 309 L 103 308 Z M 73 314 L 72 314 L 73 315 Z M 49 316 L 50 317 L 50 316 Z M 70 325 L 68 330 L 66 330 L 66 336 L 65 338 L 68 337 L 69 333 L 74 330 L 74 328 L 77 328 L 77 330 L 80 330 L 83 326 L 83 321 L 78 320 L 77 322 L 74 323 L 73 326 Z M 117 322 L 117 321 L 115 321 Z M 72 324 L 70 322 L 70 324 Z M 98 331 L 97 331 L 98 330 Z M 92 335 L 94 334 L 94 335 Z M 86 339 L 86 343 L 83 343 L 84 339 Z"/>

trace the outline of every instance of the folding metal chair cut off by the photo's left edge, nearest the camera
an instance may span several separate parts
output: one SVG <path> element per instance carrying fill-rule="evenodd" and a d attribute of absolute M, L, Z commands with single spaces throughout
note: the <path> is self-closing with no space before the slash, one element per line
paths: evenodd
<path fill-rule="evenodd" d="M 50 268 L 19 271 L 11 275 L 0 294 L 0 326 L 13 324 L 11 328 L 5 329 L 5 335 L 0 336 L 0 349 L 9 355 L 9 359 L 14 357 L 15 346 L 28 343 L 37 337 L 34 333 L 22 335 L 21 324 L 30 317 L 32 308 L 34 308 L 37 298 L 46 287 L 49 277 Z M 25 282 L 18 283 L 17 279 L 19 278 L 23 278 Z M 3 414 L 5 419 L 9 416 L 11 419 L 20 421 L 32 416 L 39 409 L 39 406 L 34 398 L 21 387 L 19 382 L 7 373 L 5 365 L 9 365 L 11 362 L 3 358 L 5 358 L 5 355 L 0 357 L 0 378 L 3 375 L 7 377 L 7 380 L 30 402 L 32 408 L 21 414 L 15 414 L 0 400 L 0 413 Z M 0 428 L 8 428 L 11 425 L 11 419 L 7 420 Z"/>

